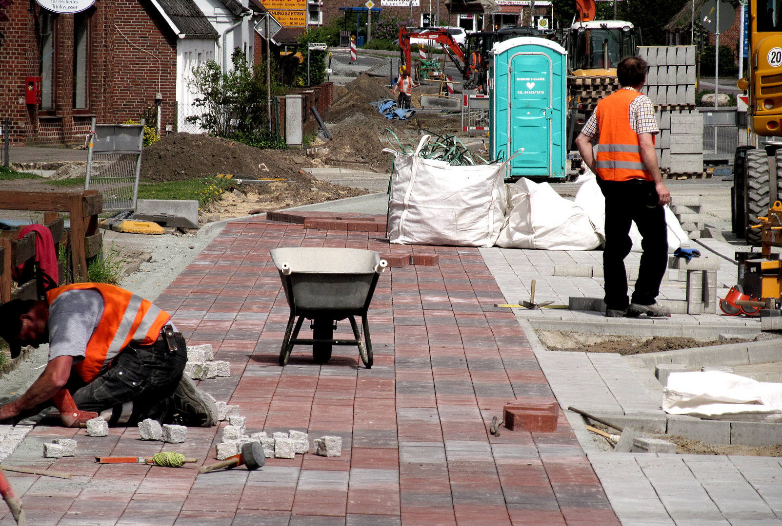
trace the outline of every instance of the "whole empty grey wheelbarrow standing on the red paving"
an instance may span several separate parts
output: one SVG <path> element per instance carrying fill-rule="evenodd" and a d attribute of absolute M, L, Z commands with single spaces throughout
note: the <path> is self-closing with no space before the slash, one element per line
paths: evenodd
<path fill-rule="evenodd" d="M 361 361 L 371 368 L 372 341 L 367 311 L 386 261 L 373 251 L 320 247 L 275 248 L 271 259 L 280 272 L 285 298 L 291 307 L 280 365 L 288 363 L 294 345 L 311 345 L 312 357 L 318 364 L 331 359 L 332 346 L 355 345 Z M 361 341 L 356 316 L 361 316 L 366 344 Z M 356 338 L 334 339 L 336 322 L 345 318 L 350 321 Z M 297 337 L 305 319 L 312 321 L 311 339 Z"/>

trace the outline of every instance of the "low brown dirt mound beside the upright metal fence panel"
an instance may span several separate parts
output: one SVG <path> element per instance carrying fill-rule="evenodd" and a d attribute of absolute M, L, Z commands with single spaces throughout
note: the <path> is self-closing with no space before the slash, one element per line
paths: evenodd
<path fill-rule="evenodd" d="M 309 183 L 312 178 L 299 170 L 310 163 L 297 164 L 293 156 L 204 133 L 169 133 L 144 148 L 141 177 L 160 183 L 232 173 L 243 179 L 282 177 Z"/>

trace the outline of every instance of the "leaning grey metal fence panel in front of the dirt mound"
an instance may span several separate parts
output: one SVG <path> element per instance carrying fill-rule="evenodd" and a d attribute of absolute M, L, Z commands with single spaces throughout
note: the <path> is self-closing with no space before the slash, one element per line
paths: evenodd
<path fill-rule="evenodd" d="M 95 124 L 92 119 L 85 190 L 98 190 L 103 211 L 133 211 L 141 173 L 142 124 Z"/>

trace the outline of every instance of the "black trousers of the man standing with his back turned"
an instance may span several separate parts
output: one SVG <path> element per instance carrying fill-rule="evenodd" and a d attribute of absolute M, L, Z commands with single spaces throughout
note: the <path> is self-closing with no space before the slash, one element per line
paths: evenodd
<path fill-rule="evenodd" d="M 644 254 L 640 257 L 633 303 L 651 305 L 660 293 L 660 282 L 668 267 L 668 227 L 665 209 L 658 204 L 655 183 L 644 179 L 604 181 L 600 177 L 597 183 L 605 196 L 605 304 L 618 311 L 630 306 L 625 258 L 633 248 L 630 223 L 634 221 L 643 238 Z"/>

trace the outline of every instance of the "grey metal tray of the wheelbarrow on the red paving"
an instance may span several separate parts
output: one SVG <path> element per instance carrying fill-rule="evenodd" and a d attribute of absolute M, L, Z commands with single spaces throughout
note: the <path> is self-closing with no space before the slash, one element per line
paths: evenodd
<path fill-rule="evenodd" d="M 355 248 L 275 248 L 271 258 L 280 272 L 288 304 L 306 312 L 368 307 L 376 283 L 375 267 L 380 262 L 377 252 Z M 284 264 L 291 270 L 287 276 L 282 273 Z"/>

